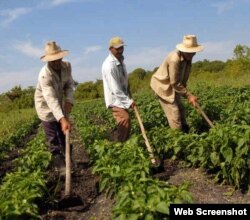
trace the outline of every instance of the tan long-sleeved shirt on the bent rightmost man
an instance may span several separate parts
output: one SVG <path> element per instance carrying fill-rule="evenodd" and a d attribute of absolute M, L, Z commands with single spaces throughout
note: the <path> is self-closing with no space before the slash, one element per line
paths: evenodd
<path fill-rule="evenodd" d="M 178 50 L 172 51 L 153 74 L 150 82 L 154 92 L 169 103 L 173 103 L 175 95 L 187 97 L 187 81 L 191 70 L 191 61 L 184 60 Z"/>

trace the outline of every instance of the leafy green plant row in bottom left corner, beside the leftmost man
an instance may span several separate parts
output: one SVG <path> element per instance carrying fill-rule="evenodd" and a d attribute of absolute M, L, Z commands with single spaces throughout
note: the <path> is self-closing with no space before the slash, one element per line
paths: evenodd
<path fill-rule="evenodd" d="M 0 186 L 1 219 L 39 219 L 37 201 L 46 191 L 46 169 L 51 154 L 40 132 L 16 159 L 16 169 Z"/>

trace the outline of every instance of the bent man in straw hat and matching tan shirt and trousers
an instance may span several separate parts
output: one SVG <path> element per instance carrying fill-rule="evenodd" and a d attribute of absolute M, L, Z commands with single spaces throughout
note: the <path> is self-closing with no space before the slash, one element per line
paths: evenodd
<path fill-rule="evenodd" d="M 151 78 L 150 86 L 159 98 L 168 124 L 173 129 L 189 131 L 181 97 L 187 98 L 191 105 L 196 105 L 197 97 L 188 91 L 187 81 L 192 58 L 203 49 L 195 35 L 185 35 L 183 42 L 176 45 L 176 50 L 170 52 Z"/>

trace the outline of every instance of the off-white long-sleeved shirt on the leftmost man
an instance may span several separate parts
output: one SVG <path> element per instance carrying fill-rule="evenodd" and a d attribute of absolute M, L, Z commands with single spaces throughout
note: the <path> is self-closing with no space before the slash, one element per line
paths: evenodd
<path fill-rule="evenodd" d="M 35 108 L 38 117 L 43 121 L 59 121 L 64 117 L 63 102 L 73 104 L 74 81 L 71 75 L 71 65 L 63 62 L 61 76 L 43 66 L 38 76 L 35 91 Z"/>

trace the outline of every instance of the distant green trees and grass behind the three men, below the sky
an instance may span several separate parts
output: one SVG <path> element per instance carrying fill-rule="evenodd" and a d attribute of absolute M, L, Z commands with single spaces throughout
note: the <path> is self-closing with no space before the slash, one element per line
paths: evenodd
<path fill-rule="evenodd" d="M 250 79 L 250 48 L 245 45 L 237 45 L 234 49 L 234 57 L 226 62 L 214 60 L 197 61 L 192 64 L 190 84 L 197 82 L 206 82 L 215 85 L 229 84 L 239 86 L 249 84 Z M 159 61 L 160 63 L 161 61 Z M 137 68 L 129 76 L 131 93 L 137 93 L 145 89 L 150 89 L 150 79 L 152 74 L 158 69 L 152 71 Z M 96 82 L 75 82 L 75 99 L 78 101 L 96 99 L 103 97 L 102 80 Z M 12 109 L 23 109 L 34 107 L 34 87 L 22 89 L 21 86 L 15 86 L 10 91 L 0 95 L 0 111 L 6 112 Z"/>

